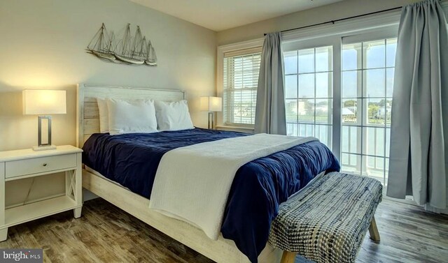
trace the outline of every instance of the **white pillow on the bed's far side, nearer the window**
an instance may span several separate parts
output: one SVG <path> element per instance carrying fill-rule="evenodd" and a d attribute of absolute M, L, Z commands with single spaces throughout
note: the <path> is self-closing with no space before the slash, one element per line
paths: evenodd
<path fill-rule="evenodd" d="M 187 100 L 165 103 L 155 101 L 155 116 L 159 130 L 187 130 L 193 129 Z"/>

